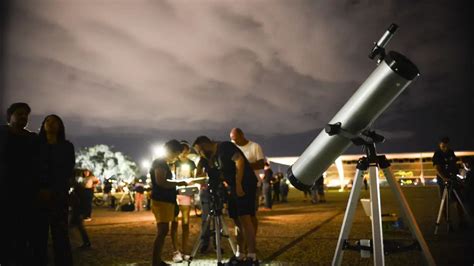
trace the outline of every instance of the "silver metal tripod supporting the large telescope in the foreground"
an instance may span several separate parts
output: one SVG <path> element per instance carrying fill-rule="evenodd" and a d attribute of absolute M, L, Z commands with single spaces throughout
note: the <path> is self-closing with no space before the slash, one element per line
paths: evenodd
<path fill-rule="evenodd" d="M 360 139 L 359 139 L 360 141 Z M 355 143 L 355 142 L 354 142 Z M 367 153 L 366 157 L 359 159 L 357 164 L 357 171 L 354 177 L 354 183 L 347 203 L 346 213 L 342 222 L 341 231 L 339 233 L 339 239 L 337 241 L 336 251 L 332 265 L 341 265 L 344 249 L 348 246 L 348 237 L 351 231 L 352 223 L 354 220 L 354 214 L 356 212 L 357 202 L 359 200 L 360 191 L 363 186 L 364 172 L 369 171 L 370 177 L 370 207 L 372 213 L 372 254 L 374 256 L 374 265 L 385 265 L 385 251 L 383 244 L 383 232 L 382 232 L 382 217 L 381 217 L 381 205 L 380 205 L 380 188 L 379 188 L 379 169 L 381 169 L 387 179 L 387 182 L 392 189 L 395 198 L 400 205 L 404 220 L 408 224 L 408 227 L 412 233 L 412 236 L 418 241 L 418 245 L 421 247 L 424 258 L 428 265 L 435 265 L 435 261 L 428 245 L 423 238 L 423 235 L 415 221 L 415 217 L 408 206 L 408 203 L 403 195 L 400 186 L 397 183 L 392 171 L 390 170 L 390 163 L 385 156 L 377 156 L 375 151 L 375 143 L 365 142 L 362 144 L 365 147 Z"/>

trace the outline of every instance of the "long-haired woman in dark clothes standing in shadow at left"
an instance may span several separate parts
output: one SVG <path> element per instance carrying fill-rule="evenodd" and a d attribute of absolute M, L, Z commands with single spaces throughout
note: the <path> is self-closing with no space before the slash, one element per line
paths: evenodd
<path fill-rule="evenodd" d="M 39 141 L 38 265 L 48 264 L 50 232 L 55 265 L 72 265 L 68 235 L 68 193 L 74 178 L 74 146 L 66 140 L 64 123 L 57 115 L 48 115 L 44 119 L 39 132 Z"/>

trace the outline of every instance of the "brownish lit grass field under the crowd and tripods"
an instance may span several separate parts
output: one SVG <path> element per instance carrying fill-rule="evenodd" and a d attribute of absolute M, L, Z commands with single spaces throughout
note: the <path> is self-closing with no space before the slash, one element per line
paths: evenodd
<path fill-rule="evenodd" d="M 456 230 L 447 233 L 440 227 L 433 234 L 439 208 L 437 187 L 407 187 L 403 192 L 412 207 L 421 230 L 438 265 L 473 265 L 474 243 L 472 231 Z M 399 213 L 397 204 L 387 188 L 381 189 L 383 213 Z M 349 192 L 328 191 L 327 203 L 311 204 L 303 193 L 293 190 L 289 203 L 275 204 L 272 211 L 259 212 L 258 257 L 264 265 L 330 265 L 342 223 Z M 369 194 L 362 191 L 361 197 Z M 452 207 L 455 208 L 454 205 Z M 453 218 L 456 212 L 453 211 Z M 227 219 L 229 229 L 231 221 Z M 456 226 L 456 222 L 454 223 Z M 125 213 L 107 208 L 96 208 L 93 221 L 86 223 L 92 239 L 89 250 L 74 249 L 78 265 L 149 265 L 152 243 L 156 234 L 153 215 L 148 212 Z M 191 244 L 200 229 L 200 218 L 191 218 Z M 455 227 L 457 229 L 457 227 Z M 76 232 L 71 232 L 73 247 L 81 243 Z M 370 239 L 370 221 L 358 206 L 350 239 Z M 406 231 L 387 232 L 386 239 L 411 239 Z M 190 247 L 191 248 L 191 247 Z M 226 258 L 231 256 L 225 243 Z M 172 257 L 170 239 L 166 240 L 164 258 Z M 215 264 L 215 253 L 197 255 L 192 265 Z M 372 258 L 361 258 L 355 251 L 344 253 L 344 265 L 372 265 Z M 419 251 L 389 254 L 387 265 L 423 265 Z M 184 264 L 183 264 L 184 265 Z"/>

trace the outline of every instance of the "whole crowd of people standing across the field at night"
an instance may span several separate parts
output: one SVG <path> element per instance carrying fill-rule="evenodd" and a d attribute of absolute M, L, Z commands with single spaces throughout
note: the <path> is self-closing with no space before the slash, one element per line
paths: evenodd
<path fill-rule="evenodd" d="M 0 180 L 1 202 L 19 198 L 19 204 L 23 206 L 3 206 L 9 218 L 0 227 L 4 245 L 0 249 L 0 264 L 47 265 L 51 235 L 54 264 L 72 265 L 69 229 L 79 231 L 83 241 L 81 248 L 91 247 L 83 222 L 91 219 L 94 188 L 99 180 L 88 169 L 81 170 L 80 180 L 74 178 L 74 146 L 67 140 L 64 123 L 58 115 L 46 116 L 39 132 L 33 133 L 25 129 L 30 112 L 28 104 L 14 103 L 7 110 L 8 124 L 0 127 L 0 172 L 5 173 L 6 177 L 2 176 Z M 458 159 L 448 142 L 448 139 L 441 140 L 433 157 L 438 184 L 440 191 L 448 185 L 461 190 L 455 182 L 459 171 L 456 165 Z M 236 228 L 237 250 L 227 265 L 259 265 L 256 254 L 259 222 L 256 213 L 262 201 L 261 210 L 264 211 L 270 211 L 274 202 L 287 202 L 289 190 L 283 174 L 273 173 L 261 146 L 248 140 L 241 129 L 234 128 L 230 131 L 230 141 L 215 141 L 207 136 L 199 136 L 192 144 L 170 140 L 164 148 L 166 155 L 155 159 L 149 169 L 149 207 L 157 224 L 152 264 L 168 265 L 162 257 L 168 233 L 174 250 L 173 261 L 190 259 L 189 217 L 192 196 L 178 194 L 177 188 L 199 183 L 204 225 L 212 208 L 210 186 L 212 182 L 218 182 L 225 193 L 223 198 L 227 214 Z M 199 156 L 197 164 L 189 159 L 189 153 L 193 150 Z M 472 162 L 467 159 L 463 163 L 466 171 L 466 181 L 462 186 L 463 198 L 472 212 Z M 325 202 L 323 180 L 323 177 L 317 179 L 311 190 L 305 192 L 312 195 L 313 203 Z M 21 197 L 16 195 L 17 187 L 22 188 Z M 104 195 L 110 196 L 110 190 L 104 184 Z M 134 209 L 140 211 L 145 199 L 143 182 L 136 180 L 133 190 Z M 459 215 L 460 227 L 465 227 L 465 214 L 460 211 Z M 177 234 L 179 222 L 181 241 Z M 203 229 L 206 230 L 201 232 L 201 252 L 207 251 L 211 238 L 208 228 Z"/>

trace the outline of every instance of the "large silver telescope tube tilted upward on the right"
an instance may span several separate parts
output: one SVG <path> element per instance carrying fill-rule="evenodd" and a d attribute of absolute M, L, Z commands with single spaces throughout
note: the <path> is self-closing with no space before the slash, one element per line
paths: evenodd
<path fill-rule="evenodd" d="M 329 124 L 340 122 L 345 131 L 359 135 L 419 76 L 418 68 L 404 55 L 390 51 Z M 288 169 L 288 179 L 299 190 L 309 189 L 351 145 L 341 135 L 324 129 Z"/>

